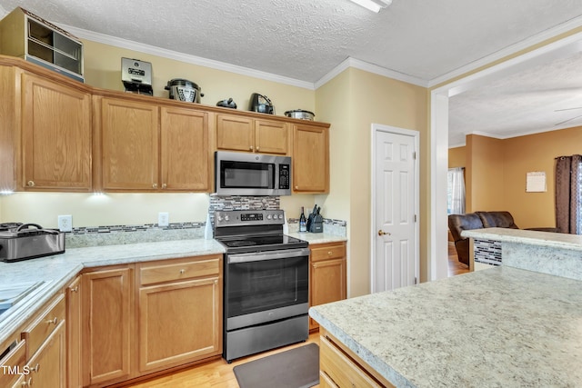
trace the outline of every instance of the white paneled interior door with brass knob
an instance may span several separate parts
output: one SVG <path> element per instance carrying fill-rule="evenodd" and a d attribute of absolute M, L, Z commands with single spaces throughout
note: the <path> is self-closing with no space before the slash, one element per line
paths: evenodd
<path fill-rule="evenodd" d="M 372 292 L 416 284 L 418 133 L 373 124 Z"/>

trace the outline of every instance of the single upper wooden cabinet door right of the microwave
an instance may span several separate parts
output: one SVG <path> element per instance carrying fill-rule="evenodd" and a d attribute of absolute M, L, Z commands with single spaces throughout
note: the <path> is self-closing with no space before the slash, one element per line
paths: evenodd
<path fill-rule="evenodd" d="M 293 126 L 293 192 L 329 193 L 329 128 Z"/>

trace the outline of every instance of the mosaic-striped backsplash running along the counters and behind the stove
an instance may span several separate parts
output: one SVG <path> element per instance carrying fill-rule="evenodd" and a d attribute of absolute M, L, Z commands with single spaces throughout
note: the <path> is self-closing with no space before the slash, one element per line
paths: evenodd
<path fill-rule="evenodd" d="M 210 195 L 208 214 L 210 222 L 214 224 L 214 215 L 217 210 L 270 210 L 279 209 L 278 196 L 219 196 Z M 296 233 L 299 229 L 299 220 L 287 220 L 289 232 Z M 205 237 L 206 222 L 175 223 L 168 226 L 157 224 L 143 225 L 109 225 L 76 227 L 73 232 L 66 234 L 67 248 L 82 248 L 97 245 L 138 244 L 146 242 L 188 240 Z M 346 221 L 324 219 L 324 232 L 346 236 Z"/>

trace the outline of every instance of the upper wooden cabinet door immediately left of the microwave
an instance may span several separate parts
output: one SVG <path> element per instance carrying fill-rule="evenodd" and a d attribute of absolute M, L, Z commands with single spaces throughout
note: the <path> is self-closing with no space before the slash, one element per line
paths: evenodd
<path fill-rule="evenodd" d="M 162 190 L 210 192 L 208 113 L 161 108 Z"/>

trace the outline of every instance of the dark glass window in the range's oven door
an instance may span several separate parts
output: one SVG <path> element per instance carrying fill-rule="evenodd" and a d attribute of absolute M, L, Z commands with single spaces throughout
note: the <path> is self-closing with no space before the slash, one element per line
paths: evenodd
<path fill-rule="evenodd" d="M 228 318 L 307 303 L 309 258 L 227 264 Z"/>

